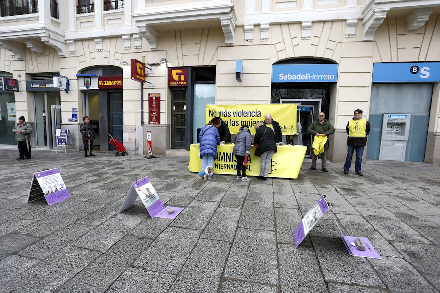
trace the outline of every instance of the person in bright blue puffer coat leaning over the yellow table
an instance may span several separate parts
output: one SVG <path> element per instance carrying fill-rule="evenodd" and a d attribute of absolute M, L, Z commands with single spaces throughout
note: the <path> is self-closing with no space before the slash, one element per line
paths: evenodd
<path fill-rule="evenodd" d="M 202 165 L 197 178 L 211 180 L 214 169 L 214 160 L 217 159 L 217 145 L 220 144 L 219 131 L 211 123 L 208 123 L 200 130 L 198 141 L 200 142 L 200 158 L 202 159 Z"/>

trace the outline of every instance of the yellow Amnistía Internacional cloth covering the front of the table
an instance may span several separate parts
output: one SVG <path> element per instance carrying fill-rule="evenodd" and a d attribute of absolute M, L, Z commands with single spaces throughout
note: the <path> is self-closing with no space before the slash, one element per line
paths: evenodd
<path fill-rule="evenodd" d="M 237 161 L 232 155 L 234 144 L 217 146 L 217 160 L 214 161 L 215 174 L 237 175 Z M 277 152 L 272 157 L 272 166 L 269 169 L 268 177 L 298 178 L 303 164 L 306 146 L 277 146 Z M 260 157 L 254 156 L 255 146 L 251 146 L 251 156 L 246 166 L 246 176 L 260 175 Z M 192 144 L 190 147 L 190 172 L 200 172 L 200 145 Z"/>

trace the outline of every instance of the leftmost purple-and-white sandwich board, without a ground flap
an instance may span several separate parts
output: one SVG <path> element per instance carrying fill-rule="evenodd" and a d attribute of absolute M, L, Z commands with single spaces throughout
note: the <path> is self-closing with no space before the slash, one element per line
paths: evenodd
<path fill-rule="evenodd" d="M 70 198 L 58 169 L 34 173 L 27 194 L 27 202 L 45 198 L 49 206 Z"/>

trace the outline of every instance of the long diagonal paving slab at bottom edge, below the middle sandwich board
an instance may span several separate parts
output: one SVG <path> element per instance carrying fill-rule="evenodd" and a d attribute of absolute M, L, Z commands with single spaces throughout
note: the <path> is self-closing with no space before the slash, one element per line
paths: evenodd
<path fill-rule="evenodd" d="M 152 240 L 125 236 L 70 279 L 60 292 L 105 292 Z"/>

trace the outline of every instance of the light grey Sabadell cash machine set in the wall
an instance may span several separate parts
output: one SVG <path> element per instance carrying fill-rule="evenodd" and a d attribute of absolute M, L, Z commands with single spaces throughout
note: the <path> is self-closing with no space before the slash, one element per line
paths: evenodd
<path fill-rule="evenodd" d="M 410 114 L 383 114 L 379 160 L 405 161 Z"/>

